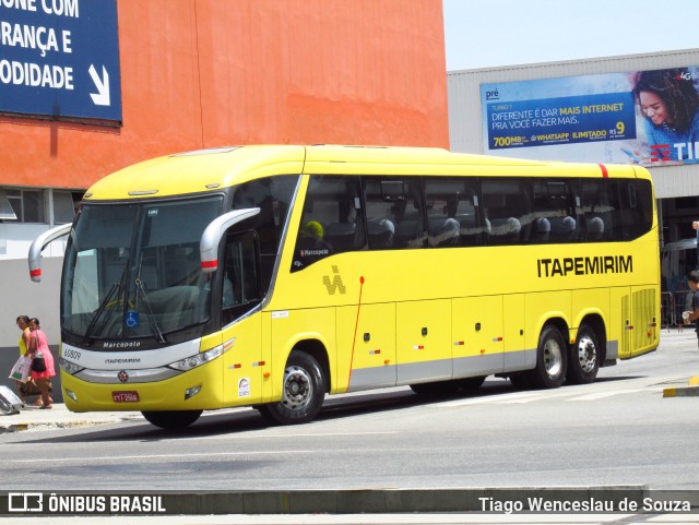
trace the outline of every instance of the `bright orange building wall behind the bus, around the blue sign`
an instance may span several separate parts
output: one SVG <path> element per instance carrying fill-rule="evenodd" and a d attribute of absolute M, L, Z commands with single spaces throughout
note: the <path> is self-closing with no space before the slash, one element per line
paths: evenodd
<path fill-rule="evenodd" d="M 0 186 L 251 143 L 449 147 L 441 0 L 118 0 L 120 127 L 0 116 Z"/>

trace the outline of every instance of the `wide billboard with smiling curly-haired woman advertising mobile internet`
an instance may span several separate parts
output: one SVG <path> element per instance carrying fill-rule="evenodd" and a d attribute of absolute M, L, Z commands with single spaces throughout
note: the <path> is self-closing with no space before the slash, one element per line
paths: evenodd
<path fill-rule="evenodd" d="M 699 162 L 699 67 L 481 85 L 484 152 L 534 159 Z"/>

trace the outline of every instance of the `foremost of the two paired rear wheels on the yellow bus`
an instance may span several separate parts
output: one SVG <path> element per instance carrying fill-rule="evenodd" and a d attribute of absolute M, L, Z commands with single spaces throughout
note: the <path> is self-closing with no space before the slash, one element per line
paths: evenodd
<path fill-rule="evenodd" d="M 526 373 L 535 389 L 557 389 L 566 380 L 568 345 L 560 330 L 547 324 L 538 336 L 536 366 Z"/>

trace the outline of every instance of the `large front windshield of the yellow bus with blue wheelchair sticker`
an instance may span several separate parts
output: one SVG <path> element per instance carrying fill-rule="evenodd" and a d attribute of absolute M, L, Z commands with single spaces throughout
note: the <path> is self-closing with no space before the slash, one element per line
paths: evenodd
<path fill-rule="evenodd" d="M 199 242 L 222 202 L 216 195 L 86 203 L 66 253 L 63 333 L 87 346 L 102 339 L 104 348 L 119 349 L 126 347 L 117 343 L 122 339 L 147 339 L 157 346 L 167 342 L 168 333 L 205 322 L 211 285 L 201 272 Z"/>

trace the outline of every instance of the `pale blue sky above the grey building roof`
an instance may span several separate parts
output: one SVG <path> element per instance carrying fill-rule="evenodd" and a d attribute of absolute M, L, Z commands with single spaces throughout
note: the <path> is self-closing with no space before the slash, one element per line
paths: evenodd
<path fill-rule="evenodd" d="M 443 0 L 447 71 L 699 48 L 698 0 Z"/>

